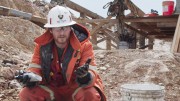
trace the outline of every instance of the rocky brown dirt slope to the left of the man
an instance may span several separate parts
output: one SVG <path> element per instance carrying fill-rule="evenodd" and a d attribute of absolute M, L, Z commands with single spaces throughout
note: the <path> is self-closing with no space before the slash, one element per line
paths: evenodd
<path fill-rule="evenodd" d="M 43 31 L 27 20 L 0 17 L 0 101 L 17 99 L 20 85 L 13 80 L 13 74 L 15 70 L 28 66 L 33 40 Z"/>

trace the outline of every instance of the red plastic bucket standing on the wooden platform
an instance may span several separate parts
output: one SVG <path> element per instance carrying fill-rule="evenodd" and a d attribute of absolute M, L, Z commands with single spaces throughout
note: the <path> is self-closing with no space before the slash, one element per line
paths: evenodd
<path fill-rule="evenodd" d="M 163 1 L 163 15 L 172 15 L 174 12 L 174 1 Z"/>

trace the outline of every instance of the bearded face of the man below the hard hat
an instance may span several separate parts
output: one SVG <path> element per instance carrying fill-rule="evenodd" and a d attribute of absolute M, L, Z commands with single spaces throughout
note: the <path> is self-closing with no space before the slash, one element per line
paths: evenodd
<path fill-rule="evenodd" d="M 52 34 L 57 46 L 64 46 L 68 43 L 70 37 L 71 27 L 56 27 L 52 28 Z M 60 47 L 64 48 L 64 47 Z"/>

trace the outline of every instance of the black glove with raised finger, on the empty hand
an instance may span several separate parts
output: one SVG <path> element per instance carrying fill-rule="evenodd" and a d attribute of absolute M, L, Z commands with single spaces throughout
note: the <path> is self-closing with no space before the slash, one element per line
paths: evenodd
<path fill-rule="evenodd" d="M 91 80 L 91 74 L 88 72 L 89 64 L 91 59 L 88 59 L 83 66 L 80 66 L 76 69 L 75 74 L 77 76 L 76 81 L 79 84 L 87 84 Z"/>

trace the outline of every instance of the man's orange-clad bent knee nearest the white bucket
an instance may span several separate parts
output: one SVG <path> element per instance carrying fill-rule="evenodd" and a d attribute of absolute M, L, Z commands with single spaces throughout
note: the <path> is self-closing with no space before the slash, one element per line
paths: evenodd
<path fill-rule="evenodd" d="M 99 92 L 94 88 L 78 88 L 74 93 L 75 101 L 101 101 Z"/>

